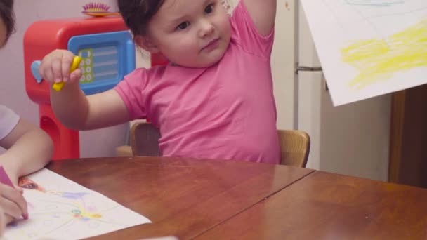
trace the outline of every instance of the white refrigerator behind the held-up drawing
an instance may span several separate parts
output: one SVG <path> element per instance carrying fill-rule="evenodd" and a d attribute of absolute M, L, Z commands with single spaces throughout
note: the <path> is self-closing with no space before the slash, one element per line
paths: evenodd
<path fill-rule="evenodd" d="M 307 167 L 388 180 L 390 95 L 333 107 L 299 1 L 295 1 L 295 11 L 294 126 L 311 138 Z"/>

